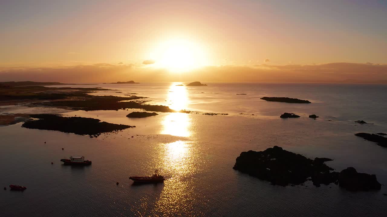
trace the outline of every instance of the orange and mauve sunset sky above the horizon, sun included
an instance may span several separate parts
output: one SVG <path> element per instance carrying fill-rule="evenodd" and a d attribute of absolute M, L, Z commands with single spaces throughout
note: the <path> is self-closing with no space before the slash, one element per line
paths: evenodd
<path fill-rule="evenodd" d="M 0 20 L 0 81 L 387 81 L 383 0 L 2 1 Z"/>

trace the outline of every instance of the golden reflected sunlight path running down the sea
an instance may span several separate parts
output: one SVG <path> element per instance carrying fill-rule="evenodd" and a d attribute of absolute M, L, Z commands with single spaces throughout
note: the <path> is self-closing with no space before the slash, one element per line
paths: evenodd
<path fill-rule="evenodd" d="M 176 86 L 180 83 L 172 83 L 168 92 L 170 108 L 174 110 L 187 109 L 188 91 L 186 86 Z M 163 129 L 160 134 L 172 136 L 191 136 L 190 114 L 170 113 L 162 121 Z M 188 214 L 192 212 L 195 203 L 194 185 L 192 175 L 197 172 L 198 153 L 194 142 L 178 140 L 171 143 L 160 143 L 159 166 L 161 173 L 168 174 L 164 181 L 164 188 L 154 206 L 154 215 L 164 213 L 167 215 Z"/>

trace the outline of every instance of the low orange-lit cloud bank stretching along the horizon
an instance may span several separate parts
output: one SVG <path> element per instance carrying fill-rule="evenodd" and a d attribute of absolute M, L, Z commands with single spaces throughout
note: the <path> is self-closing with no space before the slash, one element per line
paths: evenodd
<path fill-rule="evenodd" d="M 50 68 L 1 67 L 0 81 L 86 82 L 321 82 L 387 83 L 387 64 L 326 63 L 254 66 L 207 66 L 176 76 L 165 69 L 135 64 L 98 63 Z"/>

